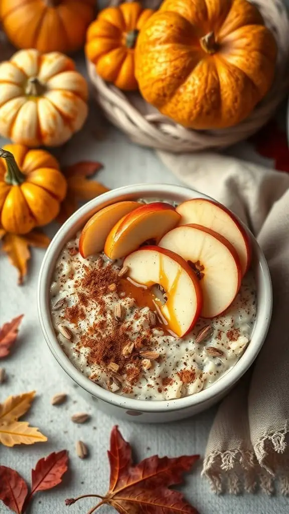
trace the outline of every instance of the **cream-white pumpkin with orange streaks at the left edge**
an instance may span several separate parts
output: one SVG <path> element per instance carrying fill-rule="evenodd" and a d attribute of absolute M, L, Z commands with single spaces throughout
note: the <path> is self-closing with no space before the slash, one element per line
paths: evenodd
<path fill-rule="evenodd" d="M 58 146 L 87 116 L 87 84 L 60 52 L 20 50 L 0 64 L 0 134 L 27 146 Z"/>

